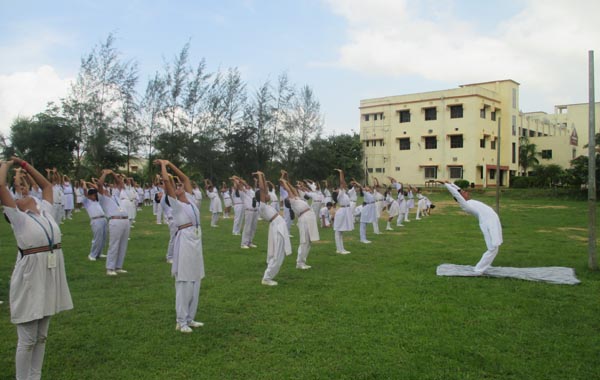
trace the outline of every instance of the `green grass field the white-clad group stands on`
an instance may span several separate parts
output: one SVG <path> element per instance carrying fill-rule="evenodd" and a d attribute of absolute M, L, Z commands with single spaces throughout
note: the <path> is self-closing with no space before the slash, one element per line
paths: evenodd
<path fill-rule="evenodd" d="M 600 273 L 587 269 L 587 203 L 503 194 L 504 245 L 495 266 L 567 266 L 581 284 L 438 277 L 442 263 L 476 263 L 485 250 L 474 217 L 445 192 L 432 216 L 335 254 L 321 230 L 295 269 L 295 250 L 276 280 L 260 284 L 267 225 L 258 248 L 241 250 L 232 220 L 210 228 L 203 203 L 206 278 L 197 320 L 176 332 L 168 231 L 150 208 L 138 214 L 125 268 L 108 277 L 87 260 L 85 212 L 62 226 L 75 308 L 52 319 L 45 379 L 597 379 Z M 485 195 L 475 198 L 493 204 Z M 522 191 L 520 197 L 522 197 Z M 385 229 L 384 221 L 380 226 Z M 358 227 L 358 226 L 357 226 Z M 296 227 L 292 227 L 293 232 Z M 297 235 L 297 234 L 295 234 Z M 297 247 L 297 237 L 292 239 Z M 16 329 L 8 281 L 15 243 L 0 228 L 0 379 L 14 378 Z"/>

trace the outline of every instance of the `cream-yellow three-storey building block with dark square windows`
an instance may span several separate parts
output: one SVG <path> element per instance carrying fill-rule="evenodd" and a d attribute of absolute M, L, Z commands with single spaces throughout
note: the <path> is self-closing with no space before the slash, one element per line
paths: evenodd
<path fill-rule="evenodd" d="M 380 182 L 390 176 L 417 185 L 465 179 L 506 186 L 518 170 L 519 83 L 513 80 L 365 99 L 360 117 L 365 168 Z"/>

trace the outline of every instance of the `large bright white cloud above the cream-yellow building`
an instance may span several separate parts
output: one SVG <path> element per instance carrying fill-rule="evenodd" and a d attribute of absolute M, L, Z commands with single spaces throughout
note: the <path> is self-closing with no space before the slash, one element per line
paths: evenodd
<path fill-rule="evenodd" d="M 522 106 L 585 101 L 587 51 L 600 48 L 597 1 L 575 6 L 572 1 L 529 0 L 502 20 L 491 19 L 490 5 L 487 24 L 481 24 L 486 12 L 455 11 L 455 1 L 326 3 L 348 23 L 338 67 L 456 84 L 513 79 L 522 85 Z"/>

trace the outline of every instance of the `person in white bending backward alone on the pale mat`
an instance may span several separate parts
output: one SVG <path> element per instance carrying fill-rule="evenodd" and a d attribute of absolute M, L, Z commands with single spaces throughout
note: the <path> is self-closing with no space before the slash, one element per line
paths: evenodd
<path fill-rule="evenodd" d="M 477 274 L 483 274 L 492 266 L 492 262 L 498 254 L 498 250 L 502 244 L 502 225 L 500 224 L 500 218 L 490 206 L 471 199 L 471 195 L 468 191 L 462 190 L 448 180 L 437 182 L 446 186 L 450 194 L 452 194 L 454 199 L 460 205 L 460 208 L 466 213 L 476 216 L 477 219 L 479 219 L 479 228 L 481 228 L 481 232 L 483 233 L 487 251 L 481 256 L 474 271 Z"/>

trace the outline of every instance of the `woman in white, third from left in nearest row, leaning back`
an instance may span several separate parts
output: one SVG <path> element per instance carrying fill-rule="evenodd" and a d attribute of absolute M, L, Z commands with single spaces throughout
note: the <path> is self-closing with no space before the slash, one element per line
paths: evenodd
<path fill-rule="evenodd" d="M 292 244 L 290 243 L 290 235 L 285 220 L 283 220 L 273 206 L 267 204 L 269 195 L 267 194 L 268 184 L 265 181 L 265 175 L 262 172 L 254 174 L 258 176 L 258 187 L 260 190 L 260 206 L 258 210 L 263 220 L 269 221 L 267 269 L 263 274 L 262 284 L 275 286 L 277 285 L 277 281 L 273 279 L 279 273 L 285 256 L 292 254 Z"/>

